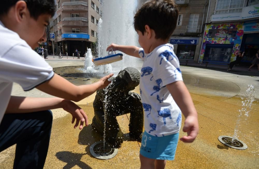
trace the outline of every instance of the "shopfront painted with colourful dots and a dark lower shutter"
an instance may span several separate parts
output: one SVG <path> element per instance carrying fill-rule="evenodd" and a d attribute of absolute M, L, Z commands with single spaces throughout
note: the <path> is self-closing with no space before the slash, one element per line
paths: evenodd
<path fill-rule="evenodd" d="M 230 62 L 235 59 L 243 37 L 241 24 L 207 25 L 199 61 Z"/>

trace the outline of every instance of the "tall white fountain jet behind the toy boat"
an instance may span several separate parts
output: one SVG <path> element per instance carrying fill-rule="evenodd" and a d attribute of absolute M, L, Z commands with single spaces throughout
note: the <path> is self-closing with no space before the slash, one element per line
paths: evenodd
<path fill-rule="evenodd" d="M 138 45 L 137 33 L 133 26 L 137 0 L 103 0 L 100 10 L 103 15 L 98 22 L 98 57 L 107 56 L 106 48 L 111 43 L 120 45 Z M 117 52 L 121 53 L 121 52 Z M 123 55 L 123 60 L 107 65 L 96 66 L 98 72 L 108 74 L 118 72 L 126 67 L 134 67 L 137 58 Z M 87 62 L 87 59 L 85 59 Z M 98 73 L 97 72 L 97 73 Z M 98 73 L 100 74 L 100 73 Z"/>

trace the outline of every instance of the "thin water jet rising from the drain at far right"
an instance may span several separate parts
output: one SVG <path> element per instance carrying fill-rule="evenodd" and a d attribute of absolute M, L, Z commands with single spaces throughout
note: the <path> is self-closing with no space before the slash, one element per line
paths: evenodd
<path fill-rule="evenodd" d="M 242 114 L 245 116 L 245 121 L 247 120 L 247 117 L 249 116 L 249 112 L 251 111 L 251 106 L 255 100 L 254 95 L 254 86 L 253 85 L 247 85 L 246 95 L 245 98 L 242 98 L 242 109 L 239 110 L 240 114 L 238 116 L 238 120 L 236 121 L 236 127 L 233 135 L 232 142 L 236 139 L 238 140 L 238 132 L 240 128 L 240 120 L 242 118 Z"/>

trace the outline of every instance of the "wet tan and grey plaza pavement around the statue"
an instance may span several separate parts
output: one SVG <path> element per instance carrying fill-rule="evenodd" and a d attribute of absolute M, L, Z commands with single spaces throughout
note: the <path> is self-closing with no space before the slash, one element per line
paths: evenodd
<path fill-rule="evenodd" d="M 83 59 L 50 58 L 46 61 L 54 71 L 70 82 L 81 85 L 98 80 L 81 71 Z M 141 62 L 136 63 L 140 70 Z M 188 63 L 189 64 L 189 63 Z M 199 134 L 192 144 L 178 143 L 174 161 L 168 161 L 166 168 L 259 168 L 259 75 L 251 75 L 236 66 L 232 72 L 214 65 L 203 67 L 181 66 L 184 83 L 188 87 L 198 112 Z M 234 67 L 235 68 L 235 67 Z M 239 69 L 238 69 L 239 68 Z M 244 69 L 244 68 L 243 68 Z M 254 72 L 255 73 L 255 72 Z M 242 101 L 247 85 L 255 86 L 255 101 L 249 116 L 241 116 L 238 126 L 239 139 L 247 144 L 246 150 L 236 150 L 218 141 L 222 135 L 233 136 L 236 121 L 242 109 Z M 62 84 L 61 84 L 62 85 Z M 134 92 L 139 93 L 139 87 Z M 16 96 L 52 97 L 37 89 L 28 92 L 15 84 L 12 91 Z M 141 143 L 128 139 L 130 114 L 117 117 L 125 133 L 124 142 L 117 156 L 109 160 L 93 158 L 89 147 L 101 136 L 92 130 L 92 102 L 95 94 L 77 102 L 89 118 L 89 126 L 74 129 L 71 115 L 63 109 L 53 111 L 53 126 L 48 156 L 44 168 L 139 168 L 139 148 Z M 183 118 L 184 122 L 184 118 Z M 183 124 L 182 124 L 183 126 Z M 180 137 L 185 135 L 182 131 Z M 15 146 L 0 153 L 0 168 L 12 168 Z"/>

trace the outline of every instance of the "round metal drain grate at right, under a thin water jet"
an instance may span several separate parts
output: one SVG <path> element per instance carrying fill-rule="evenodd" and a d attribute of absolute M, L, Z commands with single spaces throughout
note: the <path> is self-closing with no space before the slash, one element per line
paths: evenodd
<path fill-rule="evenodd" d="M 218 139 L 222 144 L 224 144 L 228 147 L 235 148 L 235 149 L 238 149 L 238 150 L 247 149 L 247 145 L 243 141 L 236 140 L 236 139 L 234 139 L 234 141 L 232 141 L 233 137 L 219 136 Z"/>

